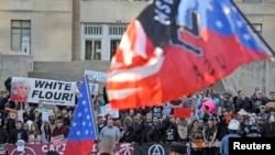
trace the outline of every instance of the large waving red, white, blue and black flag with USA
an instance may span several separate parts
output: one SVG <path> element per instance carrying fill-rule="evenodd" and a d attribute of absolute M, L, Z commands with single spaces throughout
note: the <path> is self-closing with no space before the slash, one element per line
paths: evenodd
<path fill-rule="evenodd" d="M 112 57 L 111 108 L 189 96 L 274 55 L 250 25 L 231 0 L 154 0 L 131 21 Z"/>

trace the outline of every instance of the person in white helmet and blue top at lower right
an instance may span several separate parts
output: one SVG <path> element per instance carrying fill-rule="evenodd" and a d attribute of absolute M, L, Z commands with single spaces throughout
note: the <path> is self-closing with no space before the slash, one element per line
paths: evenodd
<path fill-rule="evenodd" d="M 229 155 L 229 137 L 241 137 L 238 132 L 240 130 L 240 122 L 235 119 L 232 119 L 228 124 L 229 134 L 223 136 L 220 142 L 220 154 Z"/>

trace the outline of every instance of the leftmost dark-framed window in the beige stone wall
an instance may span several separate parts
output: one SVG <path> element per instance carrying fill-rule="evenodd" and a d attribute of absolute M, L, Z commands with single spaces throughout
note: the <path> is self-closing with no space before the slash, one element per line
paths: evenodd
<path fill-rule="evenodd" d="M 31 47 L 31 21 L 12 20 L 11 21 L 11 49 L 21 51 L 23 41 L 29 42 Z"/>

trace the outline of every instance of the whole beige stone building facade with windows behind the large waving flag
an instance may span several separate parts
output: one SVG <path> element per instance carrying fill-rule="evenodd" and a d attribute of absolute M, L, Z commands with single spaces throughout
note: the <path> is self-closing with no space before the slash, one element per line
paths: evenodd
<path fill-rule="evenodd" d="M 151 1 L 1 0 L 0 54 L 30 55 L 34 62 L 110 62 L 129 22 Z M 275 0 L 234 2 L 275 49 Z M 234 91 L 256 86 L 275 90 L 274 70 L 270 60 L 253 63 L 223 85 Z"/>

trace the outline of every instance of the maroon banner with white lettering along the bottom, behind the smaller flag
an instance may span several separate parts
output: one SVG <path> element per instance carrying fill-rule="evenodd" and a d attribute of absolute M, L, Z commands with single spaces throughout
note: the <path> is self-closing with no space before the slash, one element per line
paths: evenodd
<path fill-rule="evenodd" d="M 45 155 L 48 151 L 56 151 L 61 155 L 64 154 L 66 143 L 63 143 L 59 146 L 54 146 L 53 144 L 26 144 L 24 153 L 16 151 L 15 145 L 7 145 L 9 155 Z M 114 148 L 116 155 L 133 155 L 133 144 L 131 143 L 120 143 L 117 144 Z M 92 146 L 92 150 L 89 155 L 98 155 L 99 147 L 97 144 Z"/>

